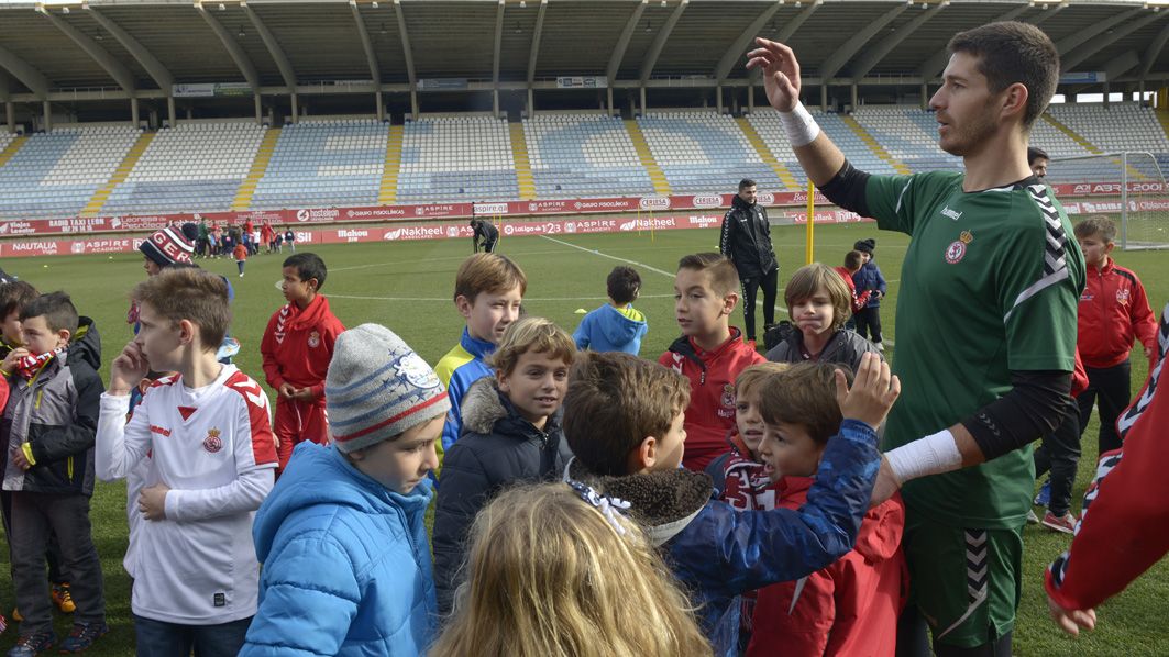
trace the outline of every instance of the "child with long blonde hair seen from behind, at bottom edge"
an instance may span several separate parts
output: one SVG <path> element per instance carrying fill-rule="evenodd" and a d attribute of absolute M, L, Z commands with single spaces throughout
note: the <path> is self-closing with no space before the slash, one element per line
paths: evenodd
<path fill-rule="evenodd" d="M 469 580 L 431 657 L 711 655 L 685 595 L 620 499 L 513 488 L 476 518 Z"/>

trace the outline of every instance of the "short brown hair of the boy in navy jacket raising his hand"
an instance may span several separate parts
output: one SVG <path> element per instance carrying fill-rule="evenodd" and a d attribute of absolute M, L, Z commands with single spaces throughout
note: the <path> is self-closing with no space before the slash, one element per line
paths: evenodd
<path fill-rule="evenodd" d="M 561 426 L 589 471 L 629 474 L 629 453 L 660 439 L 690 404 L 690 382 L 657 363 L 621 351 L 582 351 L 568 375 Z"/>

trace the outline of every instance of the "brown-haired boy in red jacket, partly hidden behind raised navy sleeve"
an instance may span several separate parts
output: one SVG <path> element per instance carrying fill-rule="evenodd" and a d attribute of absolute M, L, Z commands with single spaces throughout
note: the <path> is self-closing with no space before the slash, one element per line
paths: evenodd
<path fill-rule="evenodd" d="M 780 509 L 804 505 L 824 447 L 841 428 L 837 391 L 851 373 L 838 366 L 798 363 L 760 386 L 760 456 L 779 488 Z M 905 503 L 897 494 L 869 510 L 851 552 L 802 580 L 760 589 L 748 657 L 892 657 L 908 590 L 904 532 Z"/>

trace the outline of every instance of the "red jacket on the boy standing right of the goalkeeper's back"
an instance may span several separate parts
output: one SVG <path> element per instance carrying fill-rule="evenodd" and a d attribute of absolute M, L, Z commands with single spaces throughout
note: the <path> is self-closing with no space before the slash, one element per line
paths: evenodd
<path fill-rule="evenodd" d="M 1078 328 L 1080 356 L 1088 368 L 1123 363 L 1133 349 L 1134 337 L 1147 348 L 1156 348 L 1157 321 L 1149 308 L 1144 286 L 1132 270 L 1121 267 L 1112 258 L 1102 268 L 1087 267 Z"/>

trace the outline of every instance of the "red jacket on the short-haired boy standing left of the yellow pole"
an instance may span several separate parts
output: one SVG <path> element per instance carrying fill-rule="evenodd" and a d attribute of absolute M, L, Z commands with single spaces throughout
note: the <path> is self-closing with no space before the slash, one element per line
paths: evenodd
<path fill-rule="evenodd" d="M 682 336 L 658 358 L 658 363 L 690 379 L 683 466 L 700 473 L 719 454 L 731 449 L 725 439 L 735 427 L 734 379 L 748 366 L 766 361 L 742 341 L 742 333 L 734 327 L 731 327 L 731 338 L 713 351 L 703 351 L 691 338 Z"/>

